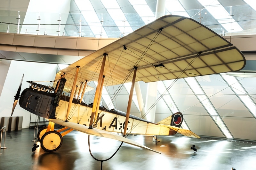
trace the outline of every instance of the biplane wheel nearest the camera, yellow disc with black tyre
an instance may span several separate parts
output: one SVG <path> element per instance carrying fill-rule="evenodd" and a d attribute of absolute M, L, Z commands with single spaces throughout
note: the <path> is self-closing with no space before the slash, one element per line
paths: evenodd
<path fill-rule="evenodd" d="M 41 147 L 46 152 L 57 151 L 62 145 L 62 136 L 59 132 L 46 132 L 41 138 Z"/>

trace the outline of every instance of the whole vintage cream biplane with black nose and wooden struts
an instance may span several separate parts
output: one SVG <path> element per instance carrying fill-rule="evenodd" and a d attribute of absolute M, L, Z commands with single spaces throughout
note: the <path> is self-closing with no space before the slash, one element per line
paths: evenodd
<path fill-rule="evenodd" d="M 20 84 L 12 114 L 19 100 L 20 107 L 50 121 L 48 127 L 38 132 L 41 147 L 47 152 L 58 150 L 62 137 L 72 130 L 153 151 L 126 136 L 179 132 L 200 137 L 180 128 L 180 112 L 158 123 L 130 115 L 135 82 L 233 72 L 244 66 L 244 55 L 217 33 L 191 18 L 166 15 L 60 70 L 54 88 L 29 81 L 30 87 L 20 94 Z M 93 103 L 86 104 L 82 99 L 90 81 L 98 84 Z M 132 87 L 126 113 L 100 105 L 103 86 L 127 82 L 132 82 Z M 65 128 L 54 131 L 54 123 Z"/>

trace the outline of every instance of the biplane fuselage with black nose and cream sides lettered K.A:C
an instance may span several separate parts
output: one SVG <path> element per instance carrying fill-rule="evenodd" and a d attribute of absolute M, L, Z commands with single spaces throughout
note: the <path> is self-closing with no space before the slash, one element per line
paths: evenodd
<path fill-rule="evenodd" d="M 65 121 L 69 97 L 62 95 L 57 107 L 53 104 L 55 99 L 56 93 L 27 88 L 21 93 L 19 104 L 20 107 L 35 115 L 46 119 L 58 118 Z M 79 100 L 74 98 L 71 108 L 68 121 L 88 126 L 92 113 L 92 104 L 87 105 L 83 102 L 79 103 Z M 97 129 L 111 132 L 124 131 L 124 124 L 126 123 L 126 114 L 124 112 L 116 109 L 108 110 L 105 107 L 100 106 L 97 115 Z M 127 132 L 144 135 L 173 135 L 177 133 L 176 131 L 171 131 L 167 127 L 159 126 L 156 123 L 148 122 L 133 115 L 130 115 L 129 117 Z"/>

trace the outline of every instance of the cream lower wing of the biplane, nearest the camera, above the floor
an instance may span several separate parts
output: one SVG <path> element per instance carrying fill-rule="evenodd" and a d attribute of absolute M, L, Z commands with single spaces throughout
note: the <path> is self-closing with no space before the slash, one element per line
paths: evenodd
<path fill-rule="evenodd" d="M 131 144 L 131 145 L 134 145 L 134 146 L 138 146 L 140 148 L 147 149 L 149 151 L 156 152 L 153 149 L 148 148 L 147 146 L 144 146 L 142 144 L 134 142 L 134 141 L 132 141 L 132 140 L 126 138 L 126 137 L 122 137 L 122 136 L 117 135 L 115 133 L 108 132 L 106 130 L 100 130 L 100 129 L 95 129 L 95 128 L 94 129 L 89 129 L 88 126 L 84 126 L 84 125 L 77 124 L 77 123 L 74 123 L 74 122 L 64 122 L 60 119 L 49 119 L 49 121 L 53 122 L 53 123 L 57 123 L 61 126 L 65 126 L 65 127 L 80 131 L 80 132 L 84 132 L 88 135 L 94 135 L 94 136 L 99 136 L 99 137 L 107 137 L 107 138 L 110 138 L 110 139 L 115 139 L 115 140 L 123 141 L 127 144 Z M 159 152 L 156 152 L 156 153 L 159 153 Z"/>

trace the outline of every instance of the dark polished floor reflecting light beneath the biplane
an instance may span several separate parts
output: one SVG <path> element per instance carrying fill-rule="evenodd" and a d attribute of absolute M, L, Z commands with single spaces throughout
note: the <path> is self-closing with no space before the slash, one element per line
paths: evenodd
<path fill-rule="evenodd" d="M 130 135 L 128 138 L 161 152 L 158 154 L 123 144 L 116 155 L 103 162 L 103 170 L 238 170 L 256 169 L 256 143 L 213 138 L 194 139 L 175 136 L 158 137 L 161 142 L 153 142 L 152 137 Z M 88 149 L 88 135 L 71 132 L 63 137 L 61 148 L 55 152 L 44 152 L 39 147 L 35 154 L 31 149 L 34 129 L 7 131 L 5 146 L 0 150 L 1 170 L 98 170 L 101 163 L 94 160 Z M 36 144 L 40 143 L 38 141 Z M 196 145 L 197 153 L 190 149 Z M 1 146 L 4 145 L 4 133 Z M 97 159 L 108 159 L 119 147 L 120 142 L 90 136 L 92 154 Z"/>

